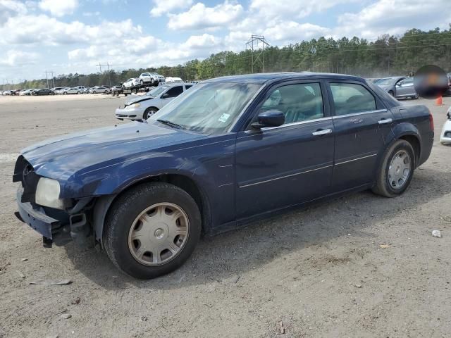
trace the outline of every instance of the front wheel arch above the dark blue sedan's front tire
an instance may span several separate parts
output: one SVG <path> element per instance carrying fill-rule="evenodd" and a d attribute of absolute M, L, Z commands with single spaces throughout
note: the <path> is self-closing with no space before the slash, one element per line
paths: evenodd
<path fill-rule="evenodd" d="M 186 175 L 180 174 L 159 174 L 153 175 L 151 177 L 145 177 L 142 180 L 138 180 L 133 182 L 132 184 L 124 187 L 120 192 L 111 195 L 99 196 L 97 198 L 96 203 L 94 204 L 94 208 L 92 210 L 92 227 L 94 230 L 94 237 L 104 246 L 102 242 L 103 232 L 104 232 L 104 222 L 106 219 L 106 215 L 108 215 L 109 211 L 111 211 L 111 206 L 114 201 L 118 199 L 119 196 L 128 192 L 128 190 L 137 187 L 140 184 L 152 183 L 152 182 L 166 182 L 169 184 L 173 184 L 180 189 L 183 189 L 187 194 L 189 194 L 192 199 L 196 202 L 199 207 L 199 211 L 202 216 L 202 231 L 209 232 L 211 227 L 211 208 L 209 204 L 209 199 L 206 195 L 206 192 L 192 180 L 192 178 L 187 177 Z"/>

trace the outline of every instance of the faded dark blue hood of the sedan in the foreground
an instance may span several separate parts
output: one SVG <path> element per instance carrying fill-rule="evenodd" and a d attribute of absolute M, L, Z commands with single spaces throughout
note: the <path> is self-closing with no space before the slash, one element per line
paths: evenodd
<path fill-rule="evenodd" d="M 78 172 L 110 167 L 149 151 L 204 137 L 158 122 L 132 122 L 47 139 L 23 149 L 21 154 L 35 173 L 63 182 Z"/>

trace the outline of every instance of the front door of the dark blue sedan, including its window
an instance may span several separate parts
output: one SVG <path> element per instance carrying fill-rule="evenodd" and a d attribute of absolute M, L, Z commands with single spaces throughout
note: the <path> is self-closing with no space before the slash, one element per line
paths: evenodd
<path fill-rule="evenodd" d="M 254 112 L 278 110 L 280 127 L 248 127 L 235 149 L 237 220 L 327 194 L 333 165 L 333 122 L 324 84 L 290 82 L 268 91 Z"/>

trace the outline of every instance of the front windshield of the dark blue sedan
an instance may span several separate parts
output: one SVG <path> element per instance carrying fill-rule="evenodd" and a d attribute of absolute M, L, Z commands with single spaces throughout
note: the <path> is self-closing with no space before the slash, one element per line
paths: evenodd
<path fill-rule="evenodd" d="M 149 118 L 185 130 L 219 134 L 228 130 L 261 87 L 249 83 L 203 83 L 184 92 Z"/>

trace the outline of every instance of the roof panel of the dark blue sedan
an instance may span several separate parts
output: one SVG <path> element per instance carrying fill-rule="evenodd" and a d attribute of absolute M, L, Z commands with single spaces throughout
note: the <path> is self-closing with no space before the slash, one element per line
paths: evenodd
<path fill-rule="evenodd" d="M 258 73 L 247 75 L 233 75 L 216 77 L 214 79 L 206 80 L 204 82 L 241 82 L 241 83 L 255 83 L 265 84 L 269 82 L 277 82 L 278 80 L 309 80 L 309 79 L 335 79 L 335 80 L 365 80 L 362 77 L 335 74 L 335 73 L 311 73 L 311 72 L 290 72 L 290 73 Z"/>

